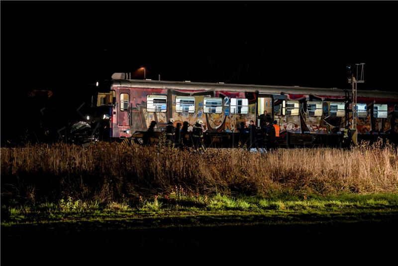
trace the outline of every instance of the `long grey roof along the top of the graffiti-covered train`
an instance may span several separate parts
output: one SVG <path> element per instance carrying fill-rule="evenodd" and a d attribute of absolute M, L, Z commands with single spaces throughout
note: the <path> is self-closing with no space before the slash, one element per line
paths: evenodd
<path fill-rule="evenodd" d="M 338 88 L 311 88 L 299 86 L 269 86 L 255 84 L 226 84 L 226 83 L 203 83 L 190 81 L 157 81 L 157 80 L 127 80 L 113 79 L 112 87 L 138 87 L 152 89 L 175 89 L 175 90 L 208 90 L 208 91 L 230 91 L 230 92 L 256 92 L 263 94 L 303 94 L 318 96 L 345 96 L 351 94 L 351 89 Z M 378 90 L 357 90 L 357 97 L 390 98 L 398 100 L 397 92 Z"/>

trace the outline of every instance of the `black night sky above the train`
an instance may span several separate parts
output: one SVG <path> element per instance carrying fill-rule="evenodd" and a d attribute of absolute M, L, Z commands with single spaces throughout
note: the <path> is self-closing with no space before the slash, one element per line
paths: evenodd
<path fill-rule="evenodd" d="M 345 66 L 365 63 L 359 89 L 397 91 L 396 10 L 392 1 L 1 1 L 1 126 L 15 93 L 79 92 L 114 72 L 142 79 L 142 65 L 154 80 L 348 89 Z"/>

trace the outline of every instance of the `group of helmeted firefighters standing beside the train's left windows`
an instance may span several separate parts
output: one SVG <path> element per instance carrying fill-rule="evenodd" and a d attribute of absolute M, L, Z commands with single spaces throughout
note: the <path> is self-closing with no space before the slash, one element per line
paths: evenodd
<path fill-rule="evenodd" d="M 171 147 L 179 147 L 184 149 L 186 147 L 194 145 L 195 149 L 205 150 L 203 143 L 203 121 L 198 119 L 192 129 L 192 134 L 188 131 L 189 123 L 185 121 L 183 127 L 181 128 L 181 123 L 177 123 L 174 127 L 174 118 L 170 118 L 166 125 L 166 144 Z M 151 138 L 155 137 L 154 128 L 156 127 L 156 122 L 152 121 L 148 128 L 148 132 L 144 134 L 144 144 L 151 143 Z M 191 142 L 191 143 L 190 143 Z"/>

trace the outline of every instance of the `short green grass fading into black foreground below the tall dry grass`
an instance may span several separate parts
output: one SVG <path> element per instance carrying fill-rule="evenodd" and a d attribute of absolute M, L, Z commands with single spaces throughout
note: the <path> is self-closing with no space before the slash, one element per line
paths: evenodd
<path fill-rule="evenodd" d="M 251 254 L 249 261 L 261 255 L 271 261 L 315 262 L 324 256 L 338 261 L 337 254 L 348 253 L 359 256 L 355 261 L 375 260 L 379 254 L 383 261 L 396 247 L 397 200 L 397 194 L 349 195 L 309 200 L 305 208 L 300 201 L 279 201 L 289 207 L 164 205 L 158 210 L 54 210 L 47 216 L 43 209 L 31 210 L 2 222 L 1 260 L 52 264 L 67 255 L 72 263 L 78 258 L 117 263 L 177 254 L 180 259 L 199 256 L 195 261 L 218 256 L 227 262 Z"/>

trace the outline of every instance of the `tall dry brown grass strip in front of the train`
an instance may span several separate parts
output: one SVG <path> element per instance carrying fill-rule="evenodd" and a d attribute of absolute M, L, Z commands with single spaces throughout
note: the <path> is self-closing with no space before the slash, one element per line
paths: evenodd
<path fill-rule="evenodd" d="M 2 199 L 35 203 L 72 197 L 105 202 L 170 193 L 264 195 L 397 191 L 398 152 L 391 145 L 352 150 L 242 149 L 204 153 L 157 146 L 100 143 L 1 148 Z"/>

